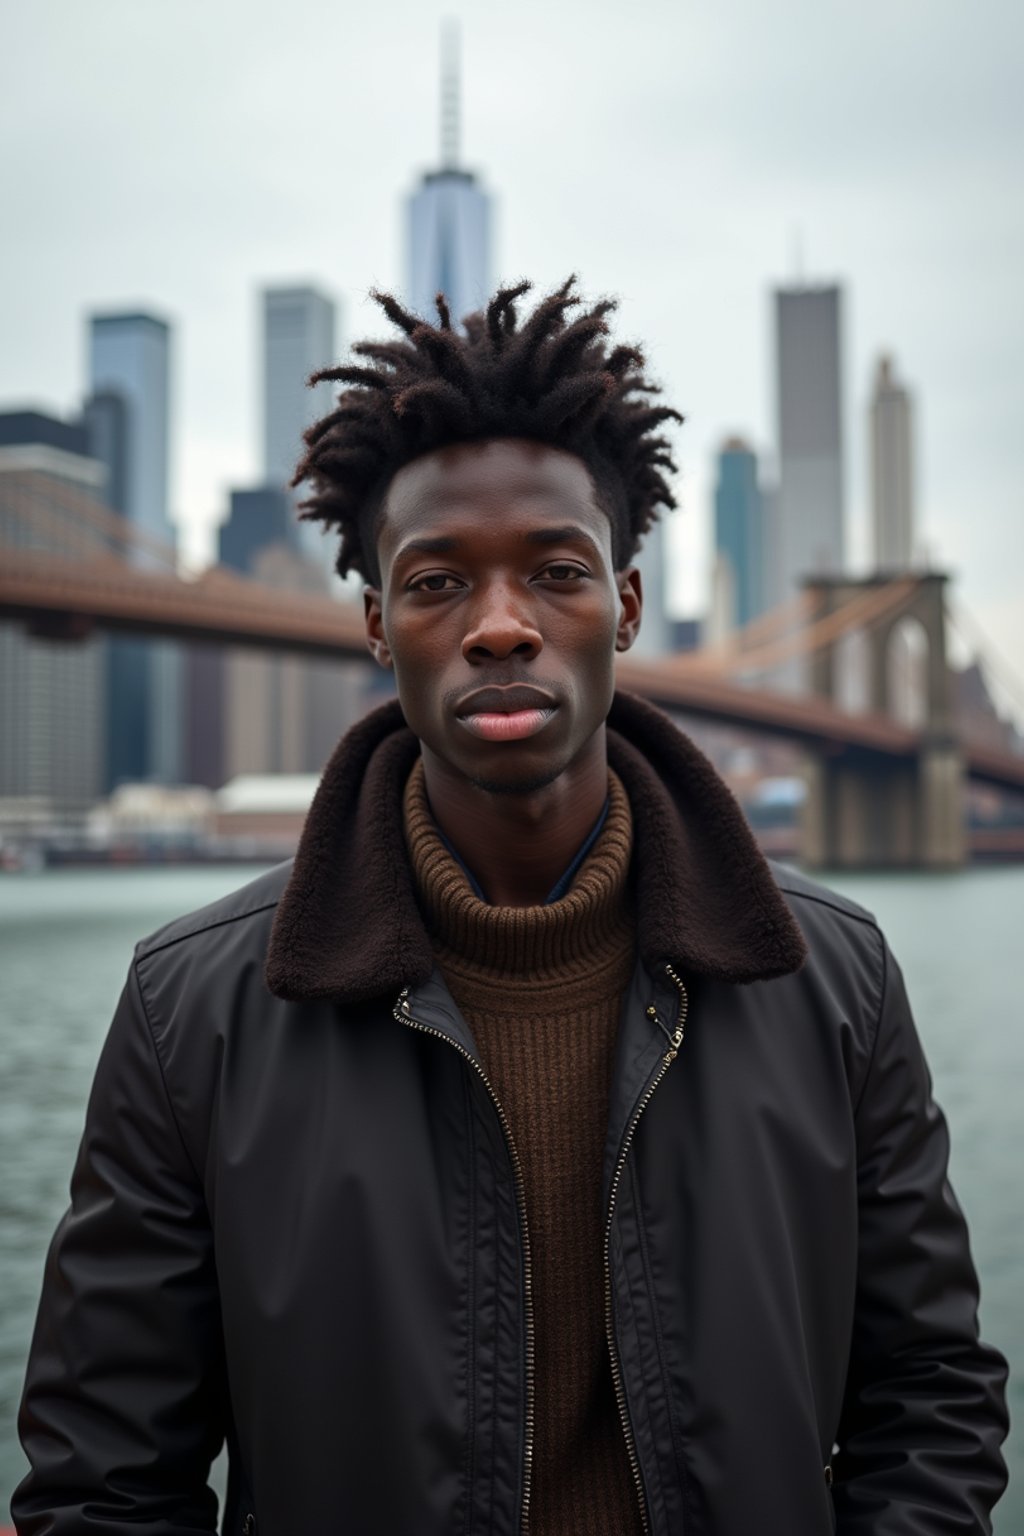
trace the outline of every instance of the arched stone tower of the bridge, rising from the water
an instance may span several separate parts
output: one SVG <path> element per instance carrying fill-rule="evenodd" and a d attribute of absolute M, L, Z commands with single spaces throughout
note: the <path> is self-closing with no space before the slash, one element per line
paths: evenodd
<path fill-rule="evenodd" d="M 870 598 L 894 581 L 812 578 L 804 585 L 818 619 Z M 913 728 L 904 757 L 864 750 L 823 751 L 806 762 L 803 862 L 812 868 L 952 868 L 964 862 L 963 751 L 956 736 L 946 657 L 944 587 L 938 571 L 912 578 L 904 599 L 846 641 L 811 659 L 811 688 L 841 703 L 843 662 L 860 662 L 863 711 Z M 854 611 L 851 610 L 851 611 Z M 900 697 L 897 650 L 917 641 L 917 694 Z M 851 641 L 857 644 L 852 647 Z"/>

